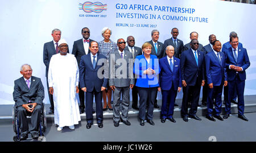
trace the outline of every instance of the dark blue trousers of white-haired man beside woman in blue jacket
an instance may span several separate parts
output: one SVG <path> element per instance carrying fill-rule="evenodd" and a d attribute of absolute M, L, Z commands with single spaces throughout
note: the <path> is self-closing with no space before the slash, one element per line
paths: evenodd
<path fill-rule="evenodd" d="M 173 84 L 170 90 L 162 90 L 161 118 L 172 118 L 176 95 L 177 90 Z"/>

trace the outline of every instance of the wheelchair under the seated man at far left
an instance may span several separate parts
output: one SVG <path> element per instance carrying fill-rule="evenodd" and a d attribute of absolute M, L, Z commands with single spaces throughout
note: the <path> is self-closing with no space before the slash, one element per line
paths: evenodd
<path fill-rule="evenodd" d="M 20 129 L 19 129 L 19 119 L 16 117 L 16 106 L 14 105 L 13 108 L 13 130 L 14 133 L 16 134 L 13 137 L 13 140 L 15 142 L 20 141 Z M 27 116 L 27 118 L 29 118 Z M 46 141 L 46 138 L 44 137 L 44 132 L 46 131 L 46 109 L 44 107 L 44 103 L 42 102 L 42 109 L 41 109 L 41 117 L 40 117 L 40 123 L 39 123 L 39 141 Z M 28 138 L 30 139 L 30 138 Z"/>

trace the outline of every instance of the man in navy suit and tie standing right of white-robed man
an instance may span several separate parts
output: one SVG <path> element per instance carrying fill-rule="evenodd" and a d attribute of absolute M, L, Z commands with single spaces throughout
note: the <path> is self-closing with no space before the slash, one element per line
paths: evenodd
<path fill-rule="evenodd" d="M 105 67 L 106 57 L 98 53 L 98 43 L 90 42 L 90 53 L 83 55 L 79 67 L 79 80 L 81 89 L 85 92 L 86 100 L 86 128 L 90 129 L 93 125 L 93 96 L 95 96 L 96 119 L 98 127 L 103 127 L 103 111 L 102 111 L 102 90 L 108 85 Z M 98 72 L 98 71 L 101 71 Z M 104 73 L 104 74 L 102 74 Z M 101 75 L 101 76 L 98 76 Z"/>

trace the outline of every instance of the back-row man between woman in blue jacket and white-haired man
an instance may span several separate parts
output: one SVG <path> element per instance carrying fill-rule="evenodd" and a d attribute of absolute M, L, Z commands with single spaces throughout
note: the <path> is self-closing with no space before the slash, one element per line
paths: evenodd
<path fill-rule="evenodd" d="M 150 43 L 151 46 L 152 46 L 151 55 L 156 55 L 158 57 L 158 59 L 161 59 L 162 57 L 164 57 L 164 44 L 161 43 L 161 42 L 158 42 L 159 31 L 158 30 L 152 30 L 151 31 L 151 38 L 152 38 L 152 40 L 148 41 L 148 43 Z M 156 100 L 157 96 L 158 95 L 157 95 L 157 92 L 156 92 L 155 103 L 154 103 L 155 108 L 159 108 L 158 101 Z"/>

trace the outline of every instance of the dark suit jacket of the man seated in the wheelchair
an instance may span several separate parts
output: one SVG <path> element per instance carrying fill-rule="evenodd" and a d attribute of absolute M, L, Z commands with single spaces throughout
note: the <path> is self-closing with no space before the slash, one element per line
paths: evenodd
<path fill-rule="evenodd" d="M 23 77 L 15 80 L 13 100 L 15 101 L 16 107 L 28 104 L 28 101 L 42 105 L 44 100 L 44 86 L 41 79 L 32 76 L 29 89 Z"/>

